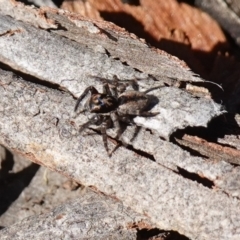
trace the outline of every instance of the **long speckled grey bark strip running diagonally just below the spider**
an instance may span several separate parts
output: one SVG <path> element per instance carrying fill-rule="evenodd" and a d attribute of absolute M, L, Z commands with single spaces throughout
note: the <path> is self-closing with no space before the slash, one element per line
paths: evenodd
<path fill-rule="evenodd" d="M 78 135 L 71 95 L 1 71 L 3 79 L 2 145 L 83 185 L 95 186 L 161 229 L 193 239 L 239 237 L 235 232 L 240 223 L 238 201 L 124 147 L 110 159 L 101 136 Z"/>

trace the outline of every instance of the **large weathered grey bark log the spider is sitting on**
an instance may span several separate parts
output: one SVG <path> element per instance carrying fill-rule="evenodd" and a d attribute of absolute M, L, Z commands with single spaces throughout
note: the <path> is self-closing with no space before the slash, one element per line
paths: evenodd
<path fill-rule="evenodd" d="M 239 239 L 240 204 L 234 198 L 239 197 L 239 168 L 221 159 L 191 156 L 168 141 L 177 129 L 206 127 L 222 114 L 212 99 L 196 98 L 176 87 L 182 81 L 202 79 L 178 59 L 106 22 L 4 0 L 0 0 L 0 14 L 0 62 L 28 78 L 0 71 L 1 144 L 117 198 L 161 229 L 192 239 Z M 111 78 L 114 74 L 120 79 L 145 78 L 139 81 L 141 90 L 169 86 L 151 92 L 159 99 L 153 111 L 160 114 L 135 118 L 136 125 L 143 127 L 137 137 L 130 141 L 133 127 L 123 134 L 131 147 L 122 146 L 109 158 L 101 136 L 78 134 L 87 117 L 74 116 L 73 96 L 88 85 L 101 88 L 90 75 Z M 31 76 L 39 84 L 31 83 Z M 114 143 L 113 133 L 108 134 Z M 208 178 L 218 191 L 184 178 L 179 168 Z M 39 218 L 31 220 L 33 234 L 41 238 L 34 230 Z M 22 227 L 28 221 L 15 226 L 21 230 L 19 239 L 29 236 Z M 53 224 L 49 231 L 54 227 L 64 234 L 81 223 Z M 8 238 L 15 227 L 0 232 L 1 238 Z"/>

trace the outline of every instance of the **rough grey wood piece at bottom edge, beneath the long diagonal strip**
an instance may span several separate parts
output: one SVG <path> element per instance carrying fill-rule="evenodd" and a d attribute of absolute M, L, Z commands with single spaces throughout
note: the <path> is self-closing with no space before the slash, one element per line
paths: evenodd
<path fill-rule="evenodd" d="M 78 199 L 1 231 L 1 239 L 136 239 L 133 223 L 150 225 L 121 202 L 83 189 Z M 126 226 L 122 229 L 122 226 Z M 21 229 L 21 230 L 20 230 Z"/>

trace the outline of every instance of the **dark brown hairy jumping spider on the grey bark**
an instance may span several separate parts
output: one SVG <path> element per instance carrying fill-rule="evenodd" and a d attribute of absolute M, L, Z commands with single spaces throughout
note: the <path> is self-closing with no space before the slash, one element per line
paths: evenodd
<path fill-rule="evenodd" d="M 77 100 L 74 111 L 76 112 L 81 101 L 90 93 L 85 109 L 94 115 L 84 123 L 79 132 L 82 132 L 90 125 L 100 126 L 104 147 L 109 156 L 111 152 L 108 148 L 106 130 L 113 125 L 117 136 L 122 134 L 120 122 L 132 123 L 136 116 L 152 117 L 158 112 L 148 112 L 157 103 L 157 98 L 147 95 L 148 92 L 159 87 L 148 89 L 144 92 L 138 91 L 138 84 L 134 80 L 120 81 L 116 76 L 113 80 L 95 77 L 103 82 L 103 93 L 97 91 L 94 86 L 87 87 Z M 135 90 L 126 90 L 132 85 Z"/>

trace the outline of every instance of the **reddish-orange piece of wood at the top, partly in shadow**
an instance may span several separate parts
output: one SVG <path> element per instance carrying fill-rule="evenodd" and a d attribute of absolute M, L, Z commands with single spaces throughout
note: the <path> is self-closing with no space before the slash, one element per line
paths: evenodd
<path fill-rule="evenodd" d="M 202 76 L 218 51 L 229 48 L 216 21 L 201 10 L 177 0 L 63 1 L 61 8 L 96 20 L 106 20 L 135 33 L 152 46 L 184 60 Z"/>

